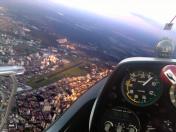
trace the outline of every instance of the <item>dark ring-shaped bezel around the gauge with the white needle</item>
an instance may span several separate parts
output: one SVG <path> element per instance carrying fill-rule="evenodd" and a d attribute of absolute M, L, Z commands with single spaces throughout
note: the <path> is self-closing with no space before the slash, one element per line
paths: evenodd
<path fill-rule="evenodd" d="M 158 94 L 157 97 L 155 97 L 151 102 L 146 102 L 146 103 L 136 103 L 134 102 L 133 100 L 131 100 L 125 93 L 125 82 L 127 80 L 127 78 L 129 77 L 129 74 L 130 73 L 136 73 L 136 72 L 144 72 L 144 73 L 152 73 L 154 74 L 155 77 L 157 77 L 158 81 L 159 81 L 159 88 L 160 88 L 160 93 Z M 125 100 L 134 105 L 134 106 L 138 106 L 138 107 L 147 107 L 147 106 L 150 106 L 150 105 L 153 105 L 155 104 L 159 99 L 160 97 L 162 96 L 162 93 L 163 93 L 163 85 L 161 83 L 161 80 L 160 78 L 158 77 L 157 73 L 153 72 L 153 71 L 149 71 L 149 70 L 130 70 L 128 72 L 126 72 L 126 74 L 123 76 L 123 79 L 122 79 L 122 82 L 121 82 L 121 92 L 122 92 L 122 95 L 123 97 L 125 98 Z"/>

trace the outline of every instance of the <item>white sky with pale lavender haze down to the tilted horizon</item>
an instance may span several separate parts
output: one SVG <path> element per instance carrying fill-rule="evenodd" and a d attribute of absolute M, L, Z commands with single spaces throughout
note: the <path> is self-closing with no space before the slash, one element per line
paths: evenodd
<path fill-rule="evenodd" d="M 172 36 L 175 38 L 176 28 L 172 31 L 163 31 L 166 23 L 169 23 L 176 15 L 175 1 L 163 0 L 49 0 L 58 5 L 80 11 L 88 11 L 93 14 L 123 21 L 127 25 L 138 28 L 147 28 L 150 33 L 159 36 Z M 167 6 L 166 6 L 167 5 Z M 130 22 L 129 22 L 130 21 Z M 176 20 L 173 21 L 176 23 Z M 145 30 L 144 30 L 145 31 Z"/>

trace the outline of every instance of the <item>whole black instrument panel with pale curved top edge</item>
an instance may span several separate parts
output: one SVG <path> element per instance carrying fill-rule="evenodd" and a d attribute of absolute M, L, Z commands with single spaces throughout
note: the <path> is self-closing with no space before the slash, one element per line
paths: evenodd
<path fill-rule="evenodd" d="M 93 119 L 104 121 L 100 124 L 100 130 L 176 132 L 176 86 L 164 83 L 160 74 L 161 69 L 170 64 L 176 65 L 176 60 L 171 62 L 163 59 L 134 58 L 121 62 L 96 102 L 95 111 L 98 112 L 94 117 L 97 118 Z M 115 122 L 114 107 L 118 109 L 115 115 L 122 115 L 120 108 L 132 111 L 140 126 L 133 124 L 137 129 L 129 129 L 128 126 L 133 122 L 129 122 L 130 117 L 118 117 L 118 122 Z M 109 110 L 109 116 L 102 116 L 107 114 L 106 110 Z M 112 117 L 112 120 L 108 117 Z M 113 126 L 113 129 L 109 129 L 109 126 Z"/>

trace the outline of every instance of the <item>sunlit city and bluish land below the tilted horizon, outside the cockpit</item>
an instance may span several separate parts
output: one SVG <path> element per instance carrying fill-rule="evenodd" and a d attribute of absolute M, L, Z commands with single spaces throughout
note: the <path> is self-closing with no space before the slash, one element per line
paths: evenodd
<path fill-rule="evenodd" d="M 149 35 L 151 28 L 125 28 L 122 21 L 87 12 L 8 1 L 0 1 L 0 65 L 23 66 L 25 73 L 17 77 L 15 103 L 4 131 L 43 131 L 110 75 L 120 60 L 153 56 L 161 38 Z"/>

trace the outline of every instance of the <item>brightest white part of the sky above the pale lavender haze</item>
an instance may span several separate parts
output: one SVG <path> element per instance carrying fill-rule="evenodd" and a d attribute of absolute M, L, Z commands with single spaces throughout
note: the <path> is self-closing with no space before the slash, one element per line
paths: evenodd
<path fill-rule="evenodd" d="M 50 0 L 72 8 L 112 18 L 126 18 L 131 13 L 150 18 L 162 25 L 176 15 L 175 0 Z M 176 20 L 174 21 L 176 23 Z"/>

